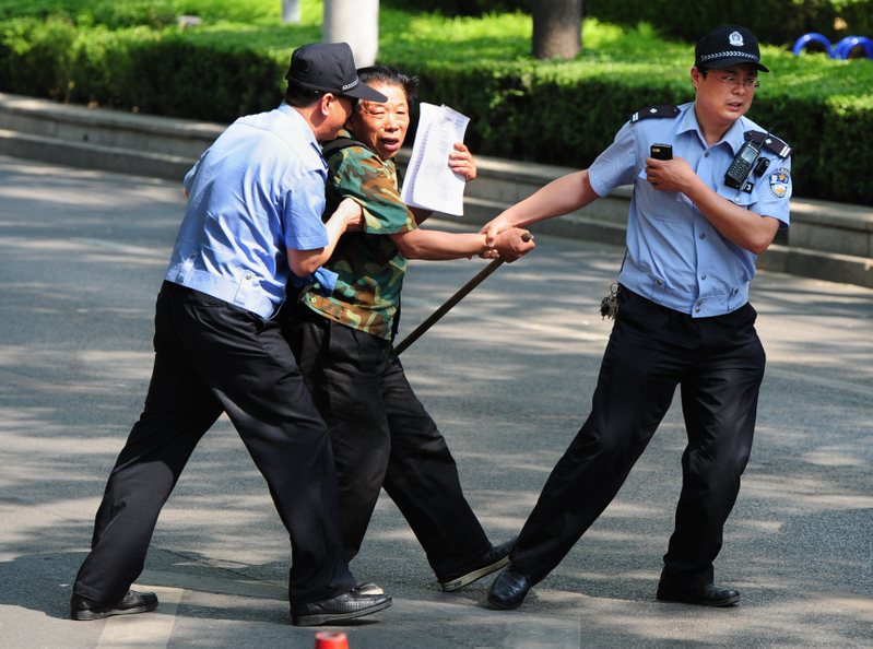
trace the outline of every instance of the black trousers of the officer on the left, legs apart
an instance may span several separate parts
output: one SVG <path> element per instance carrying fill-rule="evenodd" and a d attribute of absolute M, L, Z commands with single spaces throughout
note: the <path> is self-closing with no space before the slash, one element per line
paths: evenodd
<path fill-rule="evenodd" d="M 354 588 L 327 428 L 279 324 L 164 282 L 154 346 L 145 408 L 109 475 L 91 554 L 73 590 L 98 601 L 127 592 L 142 571 L 161 508 L 223 411 L 267 479 L 291 534 L 291 601 Z"/>

